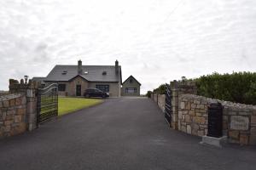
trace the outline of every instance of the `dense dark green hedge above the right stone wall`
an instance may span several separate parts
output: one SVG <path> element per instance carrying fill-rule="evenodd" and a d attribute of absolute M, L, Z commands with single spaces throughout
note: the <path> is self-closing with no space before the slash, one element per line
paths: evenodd
<path fill-rule="evenodd" d="M 247 105 L 256 105 L 256 73 L 233 72 L 202 76 L 195 79 L 198 94 Z"/>

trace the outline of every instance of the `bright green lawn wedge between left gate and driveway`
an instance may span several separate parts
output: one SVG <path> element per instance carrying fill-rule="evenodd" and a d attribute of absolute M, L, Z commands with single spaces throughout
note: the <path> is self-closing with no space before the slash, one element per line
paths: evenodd
<path fill-rule="evenodd" d="M 58 116 L 102 103 L 102 99 L 61 98 L 58 100 Z"/>

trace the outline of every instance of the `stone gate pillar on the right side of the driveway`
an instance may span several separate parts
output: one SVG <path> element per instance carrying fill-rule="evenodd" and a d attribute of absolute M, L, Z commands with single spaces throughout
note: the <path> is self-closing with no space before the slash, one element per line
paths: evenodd
<path fill-rule="evenodd" d="M 171 127 L 173 129 L 178 129 L 178 107 L 179 107 L 179 95 L 181 94 L 196 94 L 197 89 L 195 82 L 191 81 L 179 81 L 174 80 L 170 82 L 171 91 L 172 91 L 172 122 Z"/>

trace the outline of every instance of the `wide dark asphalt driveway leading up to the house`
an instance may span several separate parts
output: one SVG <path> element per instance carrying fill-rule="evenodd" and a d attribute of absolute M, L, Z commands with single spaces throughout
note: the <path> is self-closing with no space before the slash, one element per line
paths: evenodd
<path fill-rule="evenodd" d="M 256 148 L 201 145 L 170 129 L 150 99 L 106 99 L 102 105 L 0 140 L 0 169 L 256 169 Z"/>

